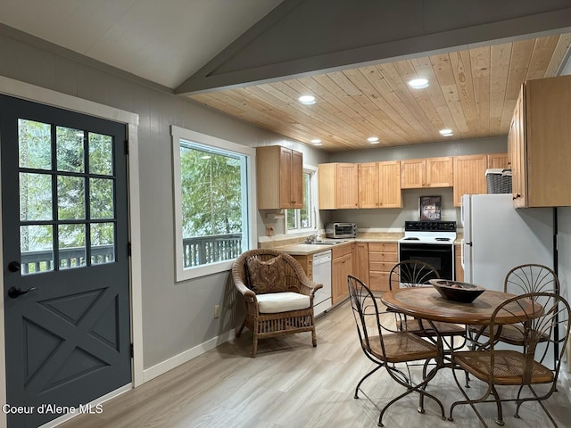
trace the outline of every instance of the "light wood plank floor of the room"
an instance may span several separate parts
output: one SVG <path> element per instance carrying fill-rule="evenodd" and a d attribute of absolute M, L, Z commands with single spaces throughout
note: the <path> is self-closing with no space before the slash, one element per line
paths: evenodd
<path fill-rule="evenodd" d="M 182 427 L 327 427 L 377 426 L 378 410 L 354 388 L 372 363 L 360 350 L 349 302 L 317 321 L 318 347 L 310 333 L 261 341 L 250 358 L 252 333 L 194 358 L 103 404 L 100 415 L 82 415 L 62 428 L 182 428 Z M 473 381 L 472 390 L 478 386 Z M 363 389 L 383 405 L 401 393 L 384 370 L 373 374 Z M 429 385 L 443 400 L 446 416 L 452 401 L 460 399 L 450 369 L 443 369 Z M 564 392 L 547 403 L 559 427 L 571 426 L 571 405 Z M 410 395 L 390 407 L 386 427 L 480 427 L 472 409 L 456 407 L 454 422 L 443 421 L 437 407 L 426 399 L 426 413 L 418 414 L 418 396 Z M 494 406 L 479 407 L 491 427 Z M 505 427 L 551 426 L 536 404 L 527 404 L 513 417 L 513 405 L 504 405 Z"/>

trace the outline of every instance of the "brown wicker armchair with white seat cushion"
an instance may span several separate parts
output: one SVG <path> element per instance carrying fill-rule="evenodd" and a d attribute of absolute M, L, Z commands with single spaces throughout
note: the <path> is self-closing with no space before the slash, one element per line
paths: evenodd
<path fill-rule="evenodd" d="M 268 289 L 261 287 L 263 281 L 256 278 L 256 272 L 252 270 L 267 268 L 269 263 L 273 263 L 271 260 L 280 261 L 280 268 L 276 268 L 274 273 L 277 272 L 279 282 L 283 280 L 284 284 L 264 292 Z M 296 259 L 283 251 L 245 251 L 235 260 L 232 277 L 246 305 L 244 322 L 236 329 L 236 337 L 240 336 L 244 326 L 252 330 L 252 358 L 256 356 L 260 339 L 285 334 L 311 332 L 311 342 L 317 346 L 313 297 L 323 284 L 310 281 Z"/>

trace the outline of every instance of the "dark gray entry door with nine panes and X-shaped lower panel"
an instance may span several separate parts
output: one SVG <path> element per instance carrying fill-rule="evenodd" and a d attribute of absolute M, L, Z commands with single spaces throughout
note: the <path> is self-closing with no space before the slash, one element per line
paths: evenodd
<path fill-rule="evenodd" d="M 124 124 L 0 96 L 9 427 L 131 381 L 125 140 Z"/>

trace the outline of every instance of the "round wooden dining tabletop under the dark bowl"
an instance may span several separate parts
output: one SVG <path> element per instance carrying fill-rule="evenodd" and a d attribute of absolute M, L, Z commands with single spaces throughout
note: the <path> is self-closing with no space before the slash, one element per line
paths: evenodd
<path fill-rule="evenodd" d="M 471 303 L 446 300 L 434 287 L 408 287 L 384 292 L 381 301 L 389 309 L 411 317 L 423 318 L 444 323 L 489 325 L 493 311 L 503 301 L 516 297 L 507 292 L 486 290 Z M 534 311 L 531 305 L 538 305 Z M 516 303 L 500 311 L 496 324 L 513 324 L 530 313 L 541 314 L 541 305 L 529 300 L 528 308 L 520 308 Z M 539 310 L 538 310 L 539 309 Z"/>

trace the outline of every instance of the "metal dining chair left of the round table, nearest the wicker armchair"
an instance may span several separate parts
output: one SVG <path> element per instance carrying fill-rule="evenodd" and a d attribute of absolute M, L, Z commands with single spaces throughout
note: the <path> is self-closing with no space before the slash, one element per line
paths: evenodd
<path fill-rule="evenodd" d="M 436 372 L 443 366 L 443 355 L 441 343 L 434 345 L 431 342 L 418 337 L 414 333 L 406 331 L 398 331 L 389 328 L 383 324 L 383 314 L 389 312 L 379 312 L 377 300 L 368 286 L 363 284 L 359 278 L 355 276 L 347 276 L 347 284 L 349 287 L 349 296 L 351 299 L 352 312 L 357 325 L 357 333 L 359 334 L 360 347 L 365 356 L 375 363 L 375 367 L 365 374 L 355 388 L 355 399 L 359 399 L 361 391 L 373 404 L 367 394 L 362 391 L 361 384 L 368 379 L 371 374 L 385 367 L 387 373 L 396 383 L 402 385 L 406 391 L 401 395 L 391 399 L 380 409 L 378 417 L 378 426 L 383 425 L 383 416 L 388 407 L 393 405 L 399 399 L 409 395 L 412 392 L 418 392 L 420 395 L 418 412 L 424 413 L 424 398 L 434 399 L 441 409 L 441 417 L 445 420 L 443 404 L 434 395 L 426 392 L 426 386 L 431 379 L 434 378 Z M 430 372 L 427 368 L 429 363 L 434 360 L 436 366 Z M 408 363 L 414 361 L 424 361 L 422 369 L 422 380 L 415 383 L 410 374 Z M 404 363 L 404 369 L 401 369 L 399 363 Z M 406 372 L 406 373 L 405 373 Z"/>

